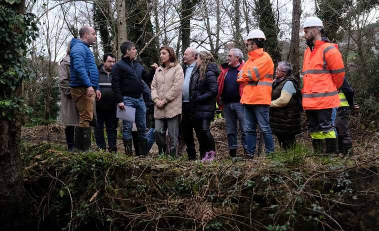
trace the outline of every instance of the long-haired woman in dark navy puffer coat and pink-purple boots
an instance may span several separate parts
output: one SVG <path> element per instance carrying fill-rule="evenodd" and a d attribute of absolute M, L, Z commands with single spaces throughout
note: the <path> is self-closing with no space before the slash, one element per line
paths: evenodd
<path fill-rule="evenodd" d="M 213 55 L 208 51 L 200 51 L 196 63 L 198 70 L 193 79 L 195 85 L 191 88 L 190 100 L 192 120 L 199 141 L 201 162 L 213 161 L 216 158 L 216 150 L 209 125 L 216 110 L 219 72 Z"/>

